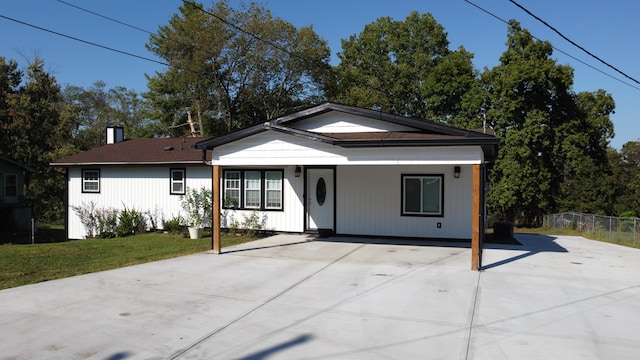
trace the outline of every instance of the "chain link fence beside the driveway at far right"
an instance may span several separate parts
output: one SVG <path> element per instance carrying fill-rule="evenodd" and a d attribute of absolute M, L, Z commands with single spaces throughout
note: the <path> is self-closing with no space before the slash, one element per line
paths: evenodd
<path fill-rule="evenodd" d="M 640 242 L 639 218 L 622 218 L 567 212 L 544 217 L 544 226 L 549 229 L 572 229 L 592 234 L 595 239 L 621 245 L 637 247 Z M 640 244 L 639 244 L 640 245 Z"/>

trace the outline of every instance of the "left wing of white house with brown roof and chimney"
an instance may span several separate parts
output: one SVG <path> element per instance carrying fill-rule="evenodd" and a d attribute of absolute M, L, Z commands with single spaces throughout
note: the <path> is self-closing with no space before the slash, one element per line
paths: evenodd
<path fill-rule="evenodd" d="M 211 189 L 211 167 L 193 148 L 198 141 L 202 138 L 125 140 L 122 128 L 108 128 L 106 145 L 51 163 L 66 168 L 67 237 L 86 236 L 73 208 L 91 203 L 97 209 L 143 212 L 159 229 L 163 220 L 185 216 L 181 195 L 191 188 Z"/>

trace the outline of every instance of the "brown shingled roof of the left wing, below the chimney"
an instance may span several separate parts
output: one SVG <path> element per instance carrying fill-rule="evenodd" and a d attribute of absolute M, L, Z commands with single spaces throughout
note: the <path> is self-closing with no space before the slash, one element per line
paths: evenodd
<path fill-rule="evenodd" d="M 64 157 L 52 162 L 51 165 L 203 164 L 202 150 L 192 147 L 203 139 L 146 138 L 125 140 Z M 207 160 L 211 158 L 210 153 L 209 151 Z"/>

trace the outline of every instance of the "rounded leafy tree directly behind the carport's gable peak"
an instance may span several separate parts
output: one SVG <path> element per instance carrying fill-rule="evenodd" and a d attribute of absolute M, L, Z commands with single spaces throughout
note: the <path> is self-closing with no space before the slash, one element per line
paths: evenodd
<path fill-rule="evenodd" d="M 338 57 L 329 97 L 394 114 L 447 122 L 477 85 L 473 55 L 463 47 L 450 50 L 431 14 L 379 18 L 343 40 Z"/>

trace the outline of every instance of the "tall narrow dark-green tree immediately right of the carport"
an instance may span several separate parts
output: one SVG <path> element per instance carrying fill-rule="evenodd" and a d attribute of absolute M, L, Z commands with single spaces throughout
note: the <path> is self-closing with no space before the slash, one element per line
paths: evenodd
<path fill-rule="evenodd" d="M 511 21 L 500 65 L 482 75 L 487 118 L 501 139 L 488 204 L 496 216 L 527 225 L 558 208 L 556 129 L 573 113 L 573 70 L 557 65 L 552 51 Z"/>

